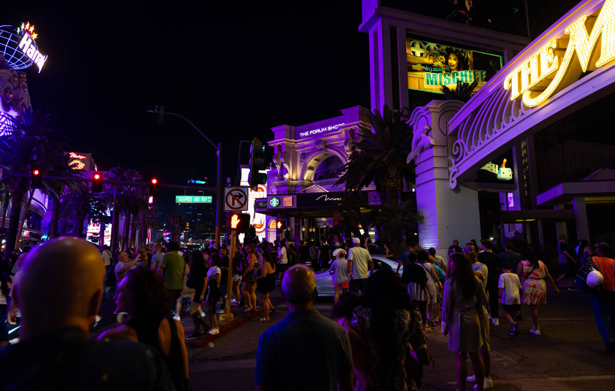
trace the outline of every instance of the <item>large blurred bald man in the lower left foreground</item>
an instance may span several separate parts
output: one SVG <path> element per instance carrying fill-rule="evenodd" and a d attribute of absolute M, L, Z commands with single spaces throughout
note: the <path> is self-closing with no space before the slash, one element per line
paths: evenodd
<path fill-rule="evenodd" d="M 54 239 L 25 257 L 13 297 L 22 312 L 20 342 L 0 352 L 7 374 L 0 389 L 173 389 L 154 350 L 87 339 L 104 275 L 100 252 L 83 239 Z M 41 305 L 45 297 L 52 300 Z"/>

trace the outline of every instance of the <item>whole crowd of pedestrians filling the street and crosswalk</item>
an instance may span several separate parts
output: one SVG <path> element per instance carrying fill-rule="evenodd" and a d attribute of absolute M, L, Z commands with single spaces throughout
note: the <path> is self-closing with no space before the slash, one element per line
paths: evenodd
<path fill-rule="evenodd" d="M 521 306 L 527 306 L 528 331 L 538 336 L 547 282 L 559 293 L 531 246 L 518 253 L 506 243 L 496 254 L 490 240 L 469 241 L 464 247 L 454 241 L 448 257 L 410 243 L 396 269 L 386 263 L 375 269 L 372 255 L 386 255 L 389 246 L 359 238 L 318 246 L 301 242 L 296 250 L 282 240 L 183 251 L 169 242 L 121 252 L 108 247 L 99 252 L 81 239 L 60 238 L 29 250 L 0 257 L 0 310 L 21 327 L 20 343 L 0 352 L 2 368 L 17 374 L 4 379 L 14 389 L 42 384 L 54 389 L 69 374 L 76 380 L 66 389 L 82 389 L 90 375 L 99 376 L 95 383 L 107 388 L 189 389 L 185 339 L 219 333 L 218 314 L 227 301 L 246 312 L 262 308 L 260 321 L 270 321 L 276 308 L 269 294 L 277 284 L 289 314 L 260 337 L 257 389 L 293 389 L 298 378 L 303 379 L 302 389 L 418 389 L 423 365 L 429 363 L 426 335 L 438 325 L 456 355 L 458 389 L 464 390 L 466 382 L 474 382 L 477 390 L 489 389 L 490 327 L 499 327 L 500 311 L 515 338 L 523 332 Z M 560 260 L 566 257 L 560 281 L 570 283 L 581 266 L 600 274 L 590 287 L 589 278 L 579 285 L 578 276 L 572 284 L 591 293 L 606 352 L 615 352 L 611 247 L 579 241 L 573 250 L 563 237 L 558 254 Z M 333 275 L 333 320 L 312 308 L 314 272 L 322 270 Z M 41 308 L 36 301 L 40 290 L 56 292 L 63 300 Z M 109 290 L 115 292 L 117 327 L 89 341 L 89 327 L 100 320 L 100 302 Z M 182 314 L 194 324 L 189 336 L 184 335 Z M 0 330 L 0 337 L 5 346 L 6 331 Z M 41 350 L 36 357 L 27 354 L 33 346 Z M 109 362 L 116 355 L 121 360 Z M 63 357 L 78 359 L 60 369 Z M 472 376 L 467 376 L 467 357 Z M 23 361 L 19 368 L 16 359 Z M 93 363 L 100 365 L 93 368 Z M 122 382 L 122 376 L 130 380 Z"/>

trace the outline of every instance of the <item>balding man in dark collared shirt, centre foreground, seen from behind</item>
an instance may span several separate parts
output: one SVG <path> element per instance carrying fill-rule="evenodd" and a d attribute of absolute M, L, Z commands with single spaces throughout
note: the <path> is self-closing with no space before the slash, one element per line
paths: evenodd
<path fill-rule="evenodd" d="M 314 271 L 295 265 L 282 277 L 288 315 L 266 330 L 256 352 L 256 390 L 351 390 L 346 331 L 312 309 Z"/>

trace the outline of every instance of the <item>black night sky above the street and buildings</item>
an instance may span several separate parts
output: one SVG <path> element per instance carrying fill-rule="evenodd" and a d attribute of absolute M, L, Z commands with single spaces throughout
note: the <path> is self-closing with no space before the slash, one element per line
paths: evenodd
<path fill-rule="evenodd" d="M 576 4 L 529 2 L 533 36 Z M 236 174 L 239 140 L 369 106 L 360 1 L 210 3 L 11 2 L 0 18 L 34 23 L 49 58 L 40 74 L 26 71 L 33 107 L 102 170 L 119 163 L 163 183 L 215 180 L 213 147 L 181 118 L 158 123 L 146 113 L 157 104 L 223 143 L 224 177 Z"/>

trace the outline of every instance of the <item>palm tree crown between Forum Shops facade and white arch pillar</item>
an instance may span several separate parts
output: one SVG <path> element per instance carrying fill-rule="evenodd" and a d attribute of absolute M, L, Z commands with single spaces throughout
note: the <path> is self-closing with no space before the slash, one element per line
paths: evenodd
<path fill-rule="evenodd" d="M 375 109 L 368 114 L 370 127 L 359 126 L 359 141 L 352 144 L 348 163 L 341 167 L 343 175 L 335 185 L 345 184 L 346 190 L 360 190 L 374 182 L 381 203 L 399 203 L 397 190 L 403 179 L 414 180 L 414 168 L 407 165 L 412 130 L 406 123 L 409 110 L 391 110 L 384 106 L 383 114 Z"/>

